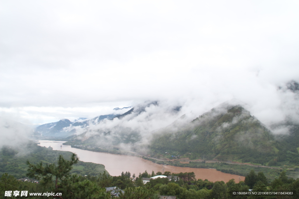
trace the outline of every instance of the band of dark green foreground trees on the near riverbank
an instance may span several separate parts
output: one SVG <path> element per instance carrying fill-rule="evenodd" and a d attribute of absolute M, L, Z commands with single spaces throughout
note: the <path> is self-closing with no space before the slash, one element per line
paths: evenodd
<path fill-rule="evenodd" d="M 28 183 L 17 181 L 12 175 L 3 174 L 0 178 L 0 193 L 8 190 L 28 191 L 29 193 L 62 193 L 56 198 L 89 198 L 89 199 L 158 199 L 159 195 L 173 195 L 178 199 L 234 199 L 234 198 L 257 198 L 256 195 L 233 195 L 233 192 L 248 192 L 248 189 L 253 189 L 253 192 L 258 191 L 283 191 L 293 192 L 293 195 L 288 195 L 288 198 L 298 198 L 299 194 L 299 178 L 294 180 L 288 178 L 285 171 L 280 172 L 278 178 L 269 181 L 263 172 L 257 174 L 251 170 L 245 177 L 245 181 L 236 183 L 234 179 L 224 183 L 223 181 L 210 182 L 208 180 L 195 179 L 193 172 L 186 173 L 170 173 L 164 172 L 163 175 L 173 177 L 150 179 L 146 184 L 143 184 L 142 178 L 149 178 L 154 175 L 162 175 L 161 172 L 156 174 L 152 171 L 149 174 L 147 171 L 140 173 L 135 178 L 135 174 L 131 177 L 130 172 L 122 172 L 120 176 L 109 176 L 105 172 L 97 176 L 88 175 L 86 177 L 71 174 L 71 170 L 78 163 L 76 154 L 71 154 L 69 158 L 64 158 L 59 155 L 57 163 L 44 163 L 43 161 L 32 164 L 29 161 L 27 176 L 39 180 L 39 183 Z M 80 168 L 81 166 L 77 166 Z M 175 180 L 174 176 L 178 176 L 179 180 Z M 112 192 L 106 192 L 105 187 L 117 186 L 123 191 L 120 191 L 118 197 L 112 196 Z M 286 195 L 260 195 L 259 198 L 285 198 Z M 1 195 L 3 197 L 3 195 Z M 12 196 L 4 198 L 20 198 L 20 196 Z M 27 197 L 28 198 L 28 197 Z M 48 198 L 47 196 L 30 198 Z M 55 198 L 55 197 L 54 197 Z"/>

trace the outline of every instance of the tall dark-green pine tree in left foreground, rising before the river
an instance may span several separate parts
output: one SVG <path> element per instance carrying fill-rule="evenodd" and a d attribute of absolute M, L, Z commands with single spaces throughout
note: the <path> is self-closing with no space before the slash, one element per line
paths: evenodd
<path fill-rule="evenodd" d="M 105 189 L 101 189 L 95 182 L 91 182 L 82 176 L 70 175 L 72 166 L 79 161 L 76 154 L 72 154 L 71 160 L 65 160 L 59 155 L 57 164 L 46 164 L 42 162 L 36 165 L 28 164 L 27 176 L 39 180 L 41 192 L 62 193 L 57 198 L 101 198 L 108 199 L 110 196 Z"/>

